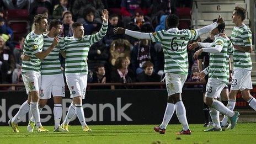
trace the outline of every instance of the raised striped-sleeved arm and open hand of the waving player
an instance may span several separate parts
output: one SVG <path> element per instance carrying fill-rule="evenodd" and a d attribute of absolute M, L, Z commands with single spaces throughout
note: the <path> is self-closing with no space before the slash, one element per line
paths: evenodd
<path fill-rule="evenodd" d="M 108 30 L 108 19 L 109 19 L 109 12 L 108 10 L 104 9 L 102 11 L 102 28 L 99 30 L 98 33 L 89 35 L 90 45 L 93 45 L 95 42 L 99 41 L 106 35 L 106 30 Z"/>

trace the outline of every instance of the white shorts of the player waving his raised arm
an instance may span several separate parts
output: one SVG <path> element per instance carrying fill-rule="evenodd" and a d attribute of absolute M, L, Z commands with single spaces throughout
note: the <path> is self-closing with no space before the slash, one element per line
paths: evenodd
<path fill-rule="evenodd" d="M 66 75 L 68 89 L 70 89 L 70 98 L 86 96 L 87 74 Z"/>

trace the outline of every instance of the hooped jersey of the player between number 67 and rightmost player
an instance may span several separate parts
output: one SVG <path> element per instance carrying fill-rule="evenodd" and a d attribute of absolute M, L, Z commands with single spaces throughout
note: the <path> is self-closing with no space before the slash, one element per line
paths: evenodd
<path fill-rule="evenodd" d="M 210 54 L 210 64 L 206 68 L 206 71 L 209 72 L 209 78 L 218 79 L 222 82 L 228 83 L 228 58 L 233 53 L 233 45 L 229 39 L 222 38 L 221 36 L 215 38 L 211 47 L 215 47 L 216 45 L 220 45 L 222 50 L 219 53 Z"/>

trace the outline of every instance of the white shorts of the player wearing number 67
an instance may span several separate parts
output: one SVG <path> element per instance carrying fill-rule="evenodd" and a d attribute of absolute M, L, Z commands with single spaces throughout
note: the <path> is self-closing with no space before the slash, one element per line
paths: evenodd
<path fill-rule="evenodd" d="M 166 73 L 166 88 L 168 96 L 182 93 L 183 85 L 186 81 L 187 75 Z"/>

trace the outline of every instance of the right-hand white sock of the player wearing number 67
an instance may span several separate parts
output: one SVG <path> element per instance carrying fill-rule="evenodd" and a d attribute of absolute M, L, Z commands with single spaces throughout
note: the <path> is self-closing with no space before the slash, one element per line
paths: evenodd
<path fill-rule="evenodd" d="M 188 121 L 186 120 L 186 109 L 182 101 L 175 103 L 175 110 L 179 122 L 182 124 L 183 130 L 189 129 Z"/>

